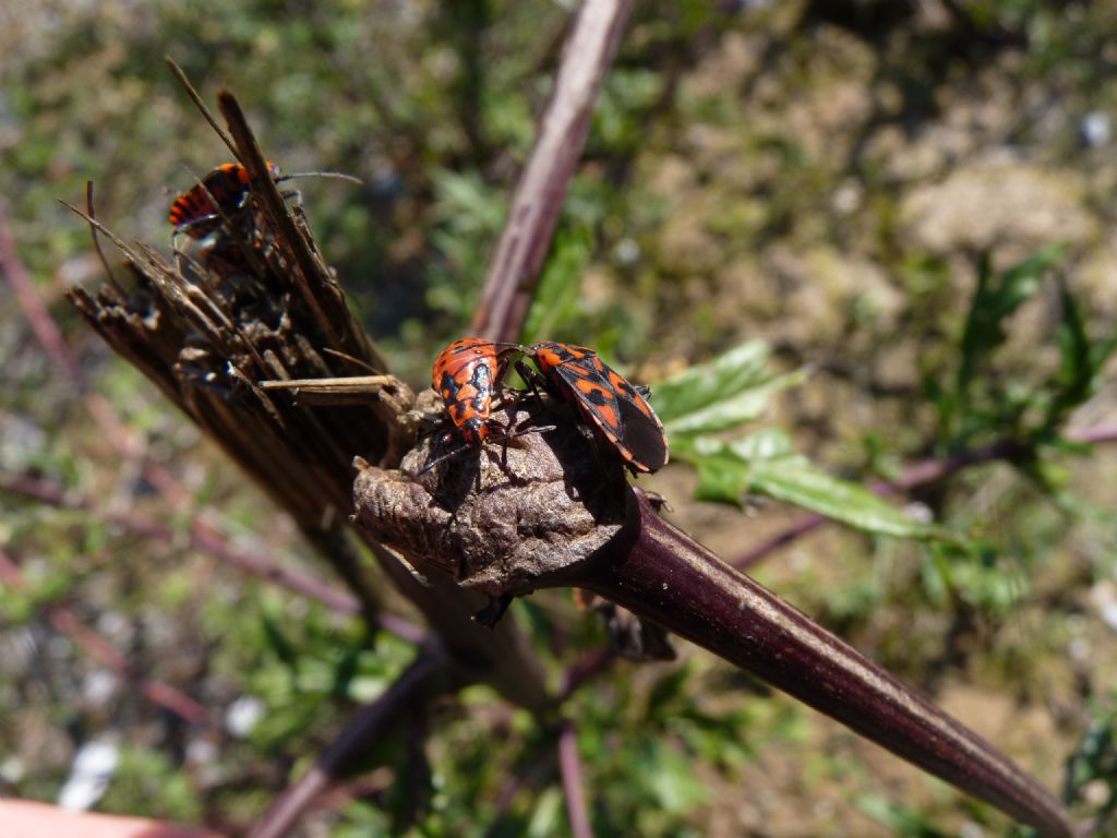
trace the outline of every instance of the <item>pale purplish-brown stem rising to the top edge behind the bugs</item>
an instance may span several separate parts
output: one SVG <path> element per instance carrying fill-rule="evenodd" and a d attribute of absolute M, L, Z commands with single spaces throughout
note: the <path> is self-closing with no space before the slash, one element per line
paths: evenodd
<path fill-rule="evenodd" d="M 585 0 L 579 9 L 532 155 L 489 266 L 472 334 L 517 341 L 585 146 L 593 104 L 632 8 L 632 0 Z"/>

